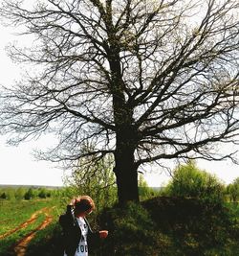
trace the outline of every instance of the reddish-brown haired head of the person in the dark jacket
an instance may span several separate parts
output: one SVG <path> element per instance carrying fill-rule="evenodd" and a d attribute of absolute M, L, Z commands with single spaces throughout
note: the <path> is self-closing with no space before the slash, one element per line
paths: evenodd
<path fill-rule="evenodd" d="M 90 213 L 95 209 L 95 203 L 89 196 L 81 196 L 75 201 L 75 214 Z"/>

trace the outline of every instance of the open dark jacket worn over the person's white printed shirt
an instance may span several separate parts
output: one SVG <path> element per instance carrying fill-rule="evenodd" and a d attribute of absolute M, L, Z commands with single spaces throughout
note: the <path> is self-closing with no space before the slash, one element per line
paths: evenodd
<path fill-rule="evenodd" d="M 99 239 L 99 233 L 93 232 L 89 222 L 84 220 L 88 226 L 87 244 L 89 248 L 94 240 Z M 63 249 L 62 253 L 65 251 L 67 256 L 74 256 L 81 239 L 81 229 L 76 221 L 72 205 L 67 205 L 66 213 L 59 217 L 59 223 L 63 231 L 62 244 L 60 244 Z"/>

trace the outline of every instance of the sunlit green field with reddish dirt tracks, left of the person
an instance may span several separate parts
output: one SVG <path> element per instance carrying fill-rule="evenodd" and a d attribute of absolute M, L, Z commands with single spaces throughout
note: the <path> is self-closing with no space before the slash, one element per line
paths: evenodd
<path fill-rule="evenodd" d="M 0 200 L 0 255 L 17 255 L 21 244 L 27 248 L 57 220 L 58 205 L 55 199 Z"/>

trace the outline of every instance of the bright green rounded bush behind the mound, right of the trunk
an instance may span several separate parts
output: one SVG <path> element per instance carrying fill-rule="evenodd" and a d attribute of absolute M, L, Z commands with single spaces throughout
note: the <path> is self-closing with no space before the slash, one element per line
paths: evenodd
<path fill-rule="evenodd" d="M 169 196 L 201 198 L 207 201 L 223 201 L 225 186 L 216 176 L 196 167 L 194 161 L 175 169 L 172 180 L 165 191 Z"/>

